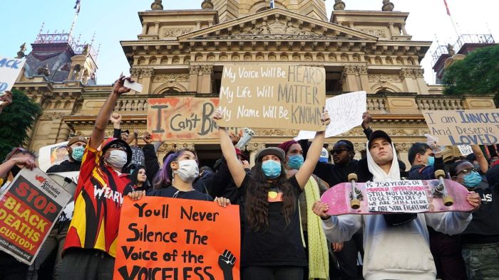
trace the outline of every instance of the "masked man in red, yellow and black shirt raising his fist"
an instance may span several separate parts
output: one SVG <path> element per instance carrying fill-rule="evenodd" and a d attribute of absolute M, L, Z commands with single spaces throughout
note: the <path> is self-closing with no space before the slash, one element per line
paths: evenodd
<path fill-rule="evenodd" d="M 132 149 L 122 139 L 104 141 L 104 135 L 118 97 L 130 92 L 125 80 L 132 82 L 124 76 L 116 80 L 83 154 L 60 279 L 113 279 L 123 195 L 133 192 L 130 177 L 123 173 Z"/>

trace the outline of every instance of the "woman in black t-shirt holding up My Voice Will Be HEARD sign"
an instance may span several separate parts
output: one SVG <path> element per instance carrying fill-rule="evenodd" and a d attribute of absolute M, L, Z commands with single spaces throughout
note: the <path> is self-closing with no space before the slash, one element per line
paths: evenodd
<path fill-rule="evenodd" d="M 222 119 L 220 109 L 213 120 Z M 329 114 L 321 116 L 329 124 Z M 227 129 L 219 128 L 220 146 L 232 178 L 245 198 L 245 235 L 242 243 L 242 278 L 245 280 L 302 280 L 307 259 L 299 225 L 298 198 L 319 161 L 324 131 L 317 132 L 307 159 L 287 178 L 284 151 L 259 151 L 249 176 L 237 161 Z"/>

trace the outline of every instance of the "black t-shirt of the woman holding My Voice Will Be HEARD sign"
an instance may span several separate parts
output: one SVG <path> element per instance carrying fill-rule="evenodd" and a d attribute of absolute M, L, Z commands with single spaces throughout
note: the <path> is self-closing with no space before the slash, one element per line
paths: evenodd
<path fill-rule="evenodd" d="M 241 193 L 243 197 L 249 188 L 251 176 L 246 175 L 242 181 Z M 298 198 L 302 193 L 297 179 L 289 178 L 294 190 L 294 200 L 297 203 L 289 225 L 282 214 L 282 191 L 272 185 L 269 190 L 268 222 L 269 227 L 255 232 L 249 226 L 245 227 L 244 241 L 242 242 L 242 266 L 307 266 L 305 250 L 299 225 Z M 247 220 L 245 220 L 247 224 Z"/>

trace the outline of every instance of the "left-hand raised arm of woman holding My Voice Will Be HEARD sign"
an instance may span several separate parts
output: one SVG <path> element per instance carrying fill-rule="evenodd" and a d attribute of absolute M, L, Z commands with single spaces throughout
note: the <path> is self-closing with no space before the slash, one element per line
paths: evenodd
<path fill-rule="evenodd" d="M 215 113 L 213 113 L 212 118 L 215 122 L 222 119 L 222 112 L 220 109 L 217 109 Z M 232 144 L 232 141 L 230 141 L 229 132 L 227 132 L 225 127 L 218 127 L 218 136 L 220 137 L 220 148 L 222 148 L 222 154 L 224 154 L 227 166 L 229 166 L 232 179 L 234 179 L 234 183 L 237 185 L 237 188 L 240 188 L 242 181 L 245 180 L 245 168 L 243 168 L 239 160 L 237 160 L 236 150 Z M 319 156 L 317 156 L 317 160 L 319 160 Z"/>

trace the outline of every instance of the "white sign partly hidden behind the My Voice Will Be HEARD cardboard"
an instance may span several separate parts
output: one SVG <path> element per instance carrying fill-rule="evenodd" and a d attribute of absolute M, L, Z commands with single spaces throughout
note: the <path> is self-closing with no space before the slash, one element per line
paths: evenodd
<path fill-rule="evenodd" d="M 362 124 L 362 114 L 367 111 L 366 92 L 350 92 L 326 99 L 331 123 L 326 127 L 326 138 L 342 134 Z M 314 139 L 315 131 L 299 131 L 296 141 Z"/>

